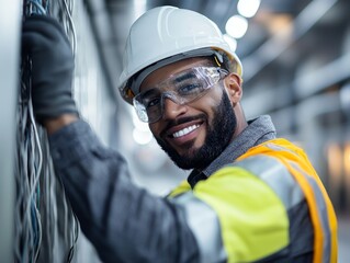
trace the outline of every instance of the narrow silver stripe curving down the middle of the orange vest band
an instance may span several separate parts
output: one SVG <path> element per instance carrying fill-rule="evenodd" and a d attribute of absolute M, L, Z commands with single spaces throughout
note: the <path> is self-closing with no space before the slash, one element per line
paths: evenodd
<path fill-rule="evenodd" d="M 309 185 L 313 188 L 313 192 L 315 193 L 315 198 L 316 198 L 316 208 L 317 208 L 317 214 L 318 218 L 320 219 L 320 224 L 324 230 L 324 250 L 323 250 L 323 262 L 328 263 L 330 262 L 330 227 L 329 227 L 329 220 L 328 220 L 328 211 L 327 211 L 327 205 L 324 198 L 323 193 L 320 192 L 320 188 L 315 181 L 315 179 L 305 171 L 303 171 L 295 162 L 290 161 L 292 167 L 296 169 L 300 173 L 302 173 L 305 179 L 308 181 Z"/>

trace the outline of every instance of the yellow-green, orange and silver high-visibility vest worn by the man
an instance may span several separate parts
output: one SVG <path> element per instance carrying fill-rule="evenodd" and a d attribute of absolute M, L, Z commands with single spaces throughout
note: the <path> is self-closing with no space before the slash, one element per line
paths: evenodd
<path fill-rule="evenodd" d="M 249 149 L 193 190 L 183 182 L 169 198 L 183 207 L 202 262 L 253 262 L 287 247 L 286 210 L 304 199 L 313 262 L 337 262 L 334 207 L 305 152 L 285 139 Z"/>

